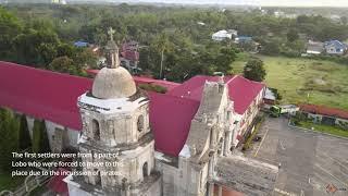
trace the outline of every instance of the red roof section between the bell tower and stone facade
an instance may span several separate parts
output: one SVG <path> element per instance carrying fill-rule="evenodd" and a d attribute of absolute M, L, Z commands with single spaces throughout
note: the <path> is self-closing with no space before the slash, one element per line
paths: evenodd
<path fill-rule="evenodd" d="M 157 93 L 149 93 L 149 97 L 156 149 L 177 156 L 185 145 L 199 101 Z"/>

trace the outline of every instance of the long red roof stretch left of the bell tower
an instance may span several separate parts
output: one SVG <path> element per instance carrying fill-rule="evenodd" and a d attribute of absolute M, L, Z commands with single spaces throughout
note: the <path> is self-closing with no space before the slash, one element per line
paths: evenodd
<path fill-rule="evenodd" d="M 91 79 L 0 61 L 0 106 L 80 130 L 77 97 Z"/>

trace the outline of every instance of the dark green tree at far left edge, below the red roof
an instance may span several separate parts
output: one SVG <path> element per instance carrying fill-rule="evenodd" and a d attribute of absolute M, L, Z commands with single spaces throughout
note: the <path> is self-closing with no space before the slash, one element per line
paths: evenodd
<path fill-rule="evenodd" d="M 18 149 L 20 123 L 9 109 L 0 109 L 0 171 L 11 169 L 12 152 Z"/>

